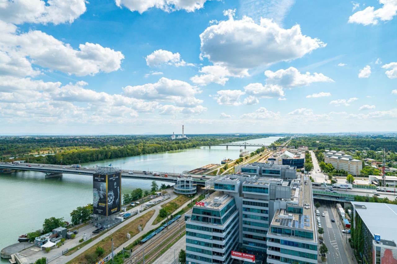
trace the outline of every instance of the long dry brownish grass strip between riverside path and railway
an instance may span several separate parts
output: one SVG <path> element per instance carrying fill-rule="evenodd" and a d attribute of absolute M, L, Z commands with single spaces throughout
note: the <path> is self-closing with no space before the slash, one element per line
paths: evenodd
<path fill-rule="evenodd" d="M 153 214 L 154 214 L 154 210 L 150 210 L 143 216 L 140 216 L 139 218 L 131 221 L 127 225 L 115 231 L 112 235 L 102 239 L 101 241 L 96 243 L 93 247 L 89 248 L 87 251 L 73 258 L 71 261 L 67 263 L 69 264 L 90 263 L 91 261 L 87 261 L 89 259 L 87 258 L 87 256 L 89 256 L 90 254 L 91 255 L 94 254 L 96 247 L 102 247 L 106 253 L 110 251 L 110 249 L 112 248 L 112 238 L 113 238 L 114 247 L 119 247 L 121 244 L 123 244 L 125 241 L 128 240 L 127 233 L 130 233 L 131 237 L 139 233 L 138 226 L 141 226 L 143 229 L 146 223 L 149 221 L 149 219 L 153 216 Z M 106 255 L 106 253 L 104 255 Z"/>

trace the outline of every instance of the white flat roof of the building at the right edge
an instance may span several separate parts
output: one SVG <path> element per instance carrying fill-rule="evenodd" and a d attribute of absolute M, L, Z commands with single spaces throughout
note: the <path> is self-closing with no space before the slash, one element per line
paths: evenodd
<path fill-rule="evenodd" d="M 396 240 L 397 238 L 397 205 L 387 203 L 351 202 L 355 205 L 372 235 L 380 234 L 381 239 Z M 366 209 L 360 208 L 365 206 Z"/>

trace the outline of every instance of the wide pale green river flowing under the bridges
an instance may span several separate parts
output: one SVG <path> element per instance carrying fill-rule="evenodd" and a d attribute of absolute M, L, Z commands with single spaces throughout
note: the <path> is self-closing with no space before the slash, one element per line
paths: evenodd
<path fill-rule="evenodd" d="M 248 143 L 269 145 L 280 137 L 248 140 Z M 120 159 L 85 163 L 83 166 L 107 166 L 132 170 L 160 172 L 183 172 L 210 163 L 220 163 L 224 158 L 237 159 L 240 147 L 213 146 L 167 151 Z M 247 147 L 254 151 L 258 147 Z M 139 187 L 150 189 L 148 180 L 122 179 L 122 193 L 130 193 Z M 162 184 L 163 182 L 158 182 Z M 170 184 L 164 182 L 165 184 Z M 62 178 L 45 179 L 41 172 L 20 171 L 0 174 L 0 250 L 17 242 L 19 235 L 41 228 L 45 218 L 64 217 L 70 221 L 69 213 L 76 207 L 92 203 L 92 177 L 64 174 Z M 1 262 L 4 260 L 2 259 Z"/>

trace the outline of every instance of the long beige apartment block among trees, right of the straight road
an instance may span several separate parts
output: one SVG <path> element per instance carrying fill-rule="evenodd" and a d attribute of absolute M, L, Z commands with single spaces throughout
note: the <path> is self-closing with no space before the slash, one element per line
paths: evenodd
<path fill-rule="evenodd" d="M 362 161 L 353 159 L 343 151 L 329 151 L 324 153 L 324 162 L 330 163 L 336 170 L 345 170 L 353 175 L 360 175 Z"/>

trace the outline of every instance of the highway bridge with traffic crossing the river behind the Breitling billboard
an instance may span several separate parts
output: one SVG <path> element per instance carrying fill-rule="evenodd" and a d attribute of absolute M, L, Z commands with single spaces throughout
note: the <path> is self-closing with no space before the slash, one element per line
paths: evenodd
<path fill-rule="evenodd" d="M 13 165 L 10 163 L 0 163 L 0 169 L 11 169 L 11 170 L 33 170 L 38 172 L 43 172 L 46 178 L 58 177 L 62 176 L 63 173 L 66 174 L 82 174 L 82 175 L 90 175 L 92 176 L 96 172 L 95 167 L 81 167 L 81 168 L 73 168 L 69 165 L 48 165 L 48 164 L 34 164 L 34 163 L 21 163 L 18 165 Z M 132 171 L 134 174 L 129 174 L 128 172 Z M 164 175 L 167 174 L 167 177 Z M 179 174 L 173 173 L 164 173 L 162 172 L 162 176 L 154 176 L 152 174 L 145 174 L 142 171 L 136 170 L 121 170 L 121 178 L 126 179 L 135 179 L 135 180 L 156 180 L 162 182 L 173 182 L 176 183 Z M 198 185 L 205 185 L 207 178 L 211 178 L 212 176 L 204 176 L 202 175 L 191 175 L 185 174 L 185 176 L 189 176 L 193 178 L 193 182 Z"/>

